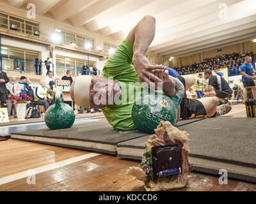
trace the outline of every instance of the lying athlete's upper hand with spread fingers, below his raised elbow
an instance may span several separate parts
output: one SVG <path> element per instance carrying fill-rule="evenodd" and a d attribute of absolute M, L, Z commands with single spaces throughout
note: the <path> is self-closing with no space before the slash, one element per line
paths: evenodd
<path fill-rule="evenodd" d="M 154 75 L 153 71 L 156 69 L 160 69 L 163 72 L 164 66 L 153 66 L 150 64 L 145 55 L 139 54 L 133 55 L 132 64 L 134 65 L 134 68 L 138 73 L 138 78 L 140 82 L 146 82 L 148 85 L 150 82 L 162 82 L 159 77 Z"/>

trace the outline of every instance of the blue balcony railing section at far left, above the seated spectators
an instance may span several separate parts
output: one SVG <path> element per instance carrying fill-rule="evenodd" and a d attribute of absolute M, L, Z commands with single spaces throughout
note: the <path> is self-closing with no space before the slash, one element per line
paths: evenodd
<path fill-rule="evenodd" d="M 45 62 L 36 63 L 28 59 L 20 59 L 15 57 L 5 57 L 0 55 L 0 70 L 17 71 L 19 73 L 37 73 L 42 74 L 42 68 Z M 39 70 L 41 72 L 39 73 Z M 54 73 L 54 64 L 50 65 L 50 70 Z"/>

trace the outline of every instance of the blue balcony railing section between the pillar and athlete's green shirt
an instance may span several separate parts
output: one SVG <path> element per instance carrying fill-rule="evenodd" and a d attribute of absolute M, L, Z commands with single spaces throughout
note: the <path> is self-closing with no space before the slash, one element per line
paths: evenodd
<path fill-rule="evenodd" d="M 80 76 L 80 75 L 102 75 L 102 72 L 100 70 L 97 70 L 97 71 L 93 71 L 91 69 L 84 69 L 84 68 L 81 68 L 81 67 L 78 67 L 78 66 L 70 66 L 70 65 L 67 65 L 67 64 L 59 64 L 57 63 L 56 64 L 56 75 L 66 75 L 66 71 L 67 70 L 71 70 L 72 72 L 72 77 L 77 77 L 77 76 Z"/>

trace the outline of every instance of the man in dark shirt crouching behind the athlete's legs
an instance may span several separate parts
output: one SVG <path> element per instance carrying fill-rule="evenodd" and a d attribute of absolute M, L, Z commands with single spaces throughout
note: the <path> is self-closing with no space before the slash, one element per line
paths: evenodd
<path fill-rule="evenodd" d="M 230 98 L 230 96 L 232 96 L 232 90 L 225 78 L 220 77 L 219 75 L 212 76 L 211 70 L 206 70 L 204 72 L 204 78 L 209 79 L 205 97 L 217 96 L 221 104 L 228 103 L 225 98 Z M 214 87 L 214 90 L 212 87 Z"/>

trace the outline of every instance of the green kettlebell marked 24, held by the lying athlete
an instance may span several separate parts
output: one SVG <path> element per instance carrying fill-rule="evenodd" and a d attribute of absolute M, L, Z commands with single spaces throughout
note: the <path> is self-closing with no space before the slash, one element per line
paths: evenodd
<path fill-rule="evenodd" d="M 176 123 L 178 108 L 185 89 L 177 78 L 169 77 L 172 78 L 179 90 L 175 96 L 170 98 L 156 92 L 143 93 L 140 98 L 136 99 L 132 107 L 134 125 L 145 133 L 153 134 L 161 120 L 170 121 L 172 125 Z"/>

